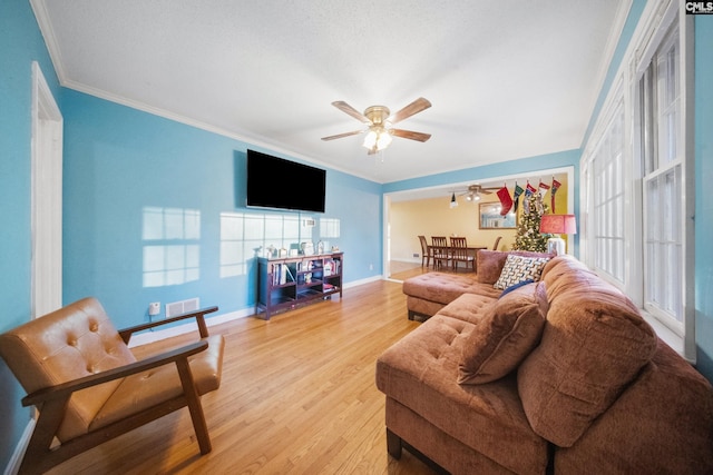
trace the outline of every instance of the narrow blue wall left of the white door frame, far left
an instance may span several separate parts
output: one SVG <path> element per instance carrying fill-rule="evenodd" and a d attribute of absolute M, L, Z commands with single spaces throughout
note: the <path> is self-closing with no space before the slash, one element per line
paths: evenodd
<path fill-rule="evenodd" d="M 0 1 L 0 331 L 30 315 L 30 136 L 32 61 L 52 93 L 59 86 L 29 2 Z M 0 359 L 0 467 L 14 451 L 31 412 Z"/>

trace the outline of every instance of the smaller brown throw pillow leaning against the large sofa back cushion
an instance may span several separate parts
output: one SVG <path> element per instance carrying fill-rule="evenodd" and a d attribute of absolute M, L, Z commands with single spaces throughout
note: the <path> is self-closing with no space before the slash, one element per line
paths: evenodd
<path fill-rule="evenodd" d="M 541 283 L 517 288 L 492 303 L 465 342 L 458 383 L 489 383 L 517 368 L 539 343 L 546 314 Z"/>

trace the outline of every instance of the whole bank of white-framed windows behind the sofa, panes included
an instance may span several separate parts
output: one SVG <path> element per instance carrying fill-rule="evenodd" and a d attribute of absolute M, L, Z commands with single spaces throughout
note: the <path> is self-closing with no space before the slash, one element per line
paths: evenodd
<path fill-rule="evenodd" d="M 582 160 L 583 260 L 695 360 L 691 21 L 651 1 Z"/>

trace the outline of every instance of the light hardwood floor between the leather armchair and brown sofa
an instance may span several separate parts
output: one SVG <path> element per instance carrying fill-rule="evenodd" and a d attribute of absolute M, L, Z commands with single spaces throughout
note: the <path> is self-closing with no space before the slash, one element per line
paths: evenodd
<path fill-rule="evenodd" d="M 384 395 L 374 384 L 377 357 L 418 325 L 401 284 L 380 280 L 270 321 L 212 327 L 226 339 L 221 388 L 202 398 L 212 453 L 199 456 L 184 408 L 50 473 L 433 474 L 406 451 L 400 461 L 387 454 Z"/>

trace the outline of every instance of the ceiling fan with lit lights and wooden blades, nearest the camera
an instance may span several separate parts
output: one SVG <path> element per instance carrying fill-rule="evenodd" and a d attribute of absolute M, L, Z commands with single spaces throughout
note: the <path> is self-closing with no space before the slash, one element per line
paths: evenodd
<path fill-rule="evenodd" d="M 363 146 L 369 150 L 369 155 L 373 155 L 384 148 L 389 147 L 393 137 L 401 137 L 404 139 L 417 140 L 424 142 L 431 138 L 430 133 L 414 132 L 411 130 L 393 129 L 391 126 L 407 119 L 414 113 L 421 112 L 429 107 L 431 102 L 428 99 L 418 98 L 397 113 L 391 115 L 391 111 L 385 106 L 371 106 L 364 110 L 364 113 L 359 112 L 356 109 L 348 105 L 342 100 L 332 102 L 332 106 L 349 113 L 356 120 L 365 123 L 368 127 L 362 130 L 353 130 L 351 132 L 338 133 L 335 136 L 322 137 L 322 140 L 341 139 L 342 137 L 355 136 L 367 132 Z"/>

